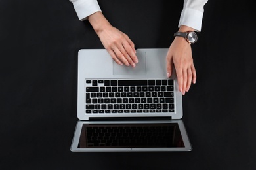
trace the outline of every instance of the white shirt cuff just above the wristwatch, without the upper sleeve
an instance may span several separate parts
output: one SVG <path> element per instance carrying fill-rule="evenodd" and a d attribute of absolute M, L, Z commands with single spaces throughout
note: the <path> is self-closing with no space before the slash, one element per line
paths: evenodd
<path fill-rule="evenodd" d="M 181 12 L 181 18 L 178 27 L 181 27 L 181 25 L 186 25 L 200 32 L 202 27 L 202 20 L 203 12 L 200 10 L 186 8 Z"/>

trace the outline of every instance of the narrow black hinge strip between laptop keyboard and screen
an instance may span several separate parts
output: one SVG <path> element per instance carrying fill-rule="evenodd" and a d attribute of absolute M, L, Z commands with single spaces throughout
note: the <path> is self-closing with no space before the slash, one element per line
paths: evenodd
<path fill-rule="evenodd" d="M 127 121 L 127 120 L 171 120 L 171 116 L 161 117 L 112 117 L 112 118 L 89 118 L 89 121 Z"/>

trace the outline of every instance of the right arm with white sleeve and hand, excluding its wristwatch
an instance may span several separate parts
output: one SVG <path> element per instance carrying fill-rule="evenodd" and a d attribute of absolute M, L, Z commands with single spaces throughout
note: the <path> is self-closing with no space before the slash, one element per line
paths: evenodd
<path fill-rule="evenodd" d="M 179 22 L 179 31 L 201 31 L 203 6 L 207 0 L 184 0 L 184 7 Z M 175 37 L 167 53 L 167 77 L 175 67 L 179 91 L 188 92 L 191 82 L 196 83 L 196 69 L 192 58 L 191 44 L 183 37 Z"/>

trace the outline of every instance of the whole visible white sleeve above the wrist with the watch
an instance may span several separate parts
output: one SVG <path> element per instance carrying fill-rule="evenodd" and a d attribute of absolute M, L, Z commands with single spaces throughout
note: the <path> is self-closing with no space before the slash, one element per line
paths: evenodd
<path fill-rule="evenodd" d="M 184 0 L 183 10 L 178 27 L 186 25 L 201 31 L 203 20 L 203 6 L 207 0 Z"/>

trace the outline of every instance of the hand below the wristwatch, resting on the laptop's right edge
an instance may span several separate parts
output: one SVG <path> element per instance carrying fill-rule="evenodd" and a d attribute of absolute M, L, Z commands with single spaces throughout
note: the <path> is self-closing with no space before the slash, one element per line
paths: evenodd
<path fill-rule="evenodd" d="M 167 52 L 167 77 L 171 76 L 175 66 L 179 91 L 184 95 L 190 89 L 191 82 L 196 83 L 191 45 L 183 37 L 175 37 Z"/>

